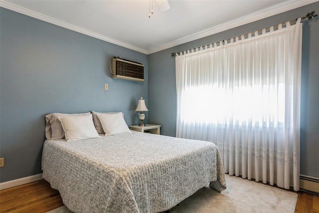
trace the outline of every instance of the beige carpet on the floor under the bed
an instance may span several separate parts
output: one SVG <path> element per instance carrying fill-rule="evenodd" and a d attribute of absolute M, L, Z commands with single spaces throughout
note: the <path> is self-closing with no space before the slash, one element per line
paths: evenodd
<path fill-rule="evenodd" d="M 294 213 L 298 194 L 226 175 L 227 189 L 209 187 L 174 207 L 170 213 Z M 49 213 L 71 213 L 65 206 Z"/>

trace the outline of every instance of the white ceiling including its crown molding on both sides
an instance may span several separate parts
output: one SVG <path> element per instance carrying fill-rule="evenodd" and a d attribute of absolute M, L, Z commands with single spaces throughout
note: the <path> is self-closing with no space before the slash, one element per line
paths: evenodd
<path fill-rule="evenodd" d="M 318 0 L 0 0 L 2 7 L 150 54 Z M 288 21 L 288 20 L 287 20 Z"/>

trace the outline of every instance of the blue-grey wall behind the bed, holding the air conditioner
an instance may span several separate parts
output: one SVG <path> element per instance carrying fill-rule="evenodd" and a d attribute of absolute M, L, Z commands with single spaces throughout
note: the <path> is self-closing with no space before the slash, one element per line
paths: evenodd
<path fill-rule="evenodd" d="M 148 106 L 146 54 L 2 7 L 0 47 L 0 182 L 42 173 L 46 114 L 121 111 L 132 125 Z M 144 64 L 145 81 L 112 79 L 113 55 Z"/>

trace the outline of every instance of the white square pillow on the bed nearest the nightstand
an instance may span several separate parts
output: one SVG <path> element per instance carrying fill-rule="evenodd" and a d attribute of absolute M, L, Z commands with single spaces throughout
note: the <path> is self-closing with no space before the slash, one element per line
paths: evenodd
<path fill-rule="evenodd" d="M 128 125 L 125 123 L 122 112 L 112 114 L 98 113 L 98 118 L 100 119 L 106 136 L 132 133 Z"/>

